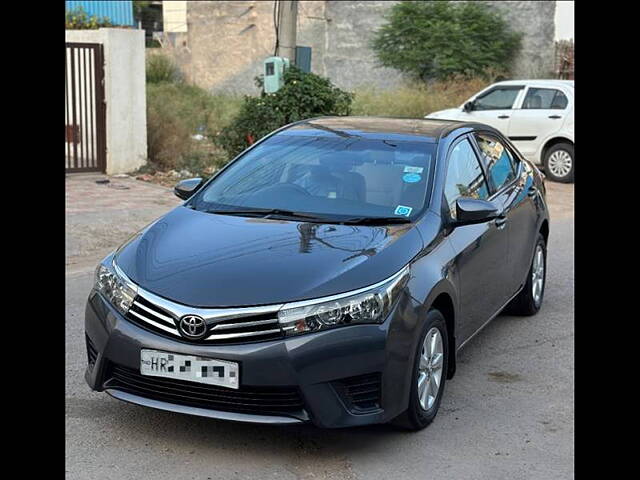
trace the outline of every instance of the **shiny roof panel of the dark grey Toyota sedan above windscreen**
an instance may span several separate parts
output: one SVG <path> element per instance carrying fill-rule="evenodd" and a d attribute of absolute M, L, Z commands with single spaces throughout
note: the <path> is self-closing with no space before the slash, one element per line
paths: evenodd
<path fill-rule="evenodd" d="M 404 140 L 437 143 L 453 130 L 463 127 L 486 129 L 475 122 L 433 118 L 318 117 L 293 123 L 279 135 L 359 136 L 374 140 Z M 490 127 L 489 127 L 490 128 Z M 493 130 L 493 129 L 492 129 Z"/>

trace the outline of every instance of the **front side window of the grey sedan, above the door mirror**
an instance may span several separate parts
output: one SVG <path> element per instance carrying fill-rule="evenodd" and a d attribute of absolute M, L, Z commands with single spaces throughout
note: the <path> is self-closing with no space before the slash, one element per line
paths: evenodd
<path fill-rule="evenodd" d="M 456 200 L 460 197 L 487 199 L 489 189 L 482 167 L 469 140 L 459 142 L 449 154 L 444 196 L 451 218 L 456 218 Z"/>

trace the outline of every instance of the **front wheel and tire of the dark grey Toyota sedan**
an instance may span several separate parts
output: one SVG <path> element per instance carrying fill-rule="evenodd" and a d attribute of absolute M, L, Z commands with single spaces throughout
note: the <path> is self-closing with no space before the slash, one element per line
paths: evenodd
<path fill-rule="evenodd" d="M 435 339 L 434 336 L 436 336 Z M 435 341 L 435 348 L 431 352 L 425 351 L 427 338 L 431 338 L 432 341 Z M 425 355 L 425 353 L 427 355 Z M 421 362 L 423 356 L 428 357 L 429 353 L 432 354 L 431 369 L 426 365 L 426 362 Z M 440 363 L 435 359 L 438 354 L 440 355 Z M 438 372 L 433 368 L 436 364 L 439 364 Z M 420 341 L 418 342 L 413 358 L 409 407 L 402 415 L 393 420 L 394 425 L 406 430 L 417 431 L 422 430 L 433 422 L 434 418 L 436 418 L 436 414 L 438 413 L 438 409 L 440 408 L 440 401 L 442 400 L 442 394 L 444 392 L 444 386 L 447 379 L 448 364 L 449 337 L 447 334 L 446 321 L 442 313 L 436 309 L 432 309 L 427 313 L 426 321 L 422 326 Z M 429 374 L 431 374 L 431 377 L 429 377 Z M 433 383 L 423 383 L 425 387 L 419 388 L 419 378 L 423 379 L 422 382 Z M 437 391 L 435 392 L 435 395 L 423 395 L 421 401 L 420 393 L 425 393 L 425 390 L 427 390 L 427 394 L 434 392 L 434 390 Z M 424 406 L 427 408 L 424 408 Z"/>

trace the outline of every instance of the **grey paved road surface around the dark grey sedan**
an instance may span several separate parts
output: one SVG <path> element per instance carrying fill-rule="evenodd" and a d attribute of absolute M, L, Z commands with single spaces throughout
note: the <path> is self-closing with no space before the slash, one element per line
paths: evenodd
<path fill-rule="evenodd" d="M 438 417 L 418 433 L 222 422 L 91 392 L 82 377 L 82 324 L 97 259 L 76 255 L 66 278 L 67 478 L 573 478 L 573 187 L 548 188 L 552 226 L 542 310 L 529 318 L 500 316 L 470 342 Z M 82 225 L 83 214 L 73 215 Z M 131 226 L 153 219 L 109 215 L 129 218 Z"/>

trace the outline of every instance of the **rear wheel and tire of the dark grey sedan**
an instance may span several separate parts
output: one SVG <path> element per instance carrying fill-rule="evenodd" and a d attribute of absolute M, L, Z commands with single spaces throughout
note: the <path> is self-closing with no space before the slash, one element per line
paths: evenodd
<path fill-rule="evenodd" d="M 540 265 L 542 265 L 542 271 L 539 269 Z M 529 272 L 527 273 L 527 281 L 520 293 L 505 307 L 504 313 L 510 315 L 535 315 L 538 313 L 544 299 L 546 277 L 547 246 L 544 237 L 538 234 L 531 267 L 529 267 Z"/>

